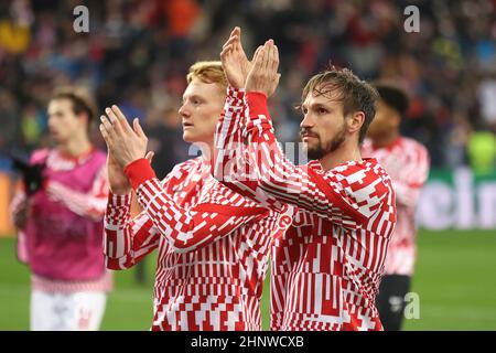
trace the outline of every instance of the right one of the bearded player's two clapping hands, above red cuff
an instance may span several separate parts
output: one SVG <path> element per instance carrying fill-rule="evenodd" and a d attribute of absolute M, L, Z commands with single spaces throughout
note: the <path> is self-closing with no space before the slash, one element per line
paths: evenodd
<path fill-rule="evenodd" d="M 258 92 L 270 97 L 279 85 L 279 51 L 269 40 L 254 55 L 252 67 L 246 79 L 246 92 Z"/>

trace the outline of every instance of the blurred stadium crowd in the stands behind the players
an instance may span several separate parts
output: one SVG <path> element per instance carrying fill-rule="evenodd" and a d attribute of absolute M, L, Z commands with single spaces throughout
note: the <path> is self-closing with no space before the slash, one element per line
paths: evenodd
<path fill-rule="evenodd" d="M 80 3 L 88 33 L 73 28 Z M 403 28 L 411 4 L 419 33 Z M 72 84 L 93 92 L 100 108 L 118 104 L 139 117 L 165 174 L 187 158 L 176 113 L 187 67 L 218 60 L 234 25 L 249 53 L 269 38 L 279 43 L 282 78 L 271 108 L 280 140 L 299 140 L 301 85 L 331 60 L 408 89 L 402 132 L 429 149 L 432 167 L 494 169 L 496 0 L 2 1 L 0 169 L 10 168 L 10 149 L 48 142 L 46 103 L 54 87 Z"/>

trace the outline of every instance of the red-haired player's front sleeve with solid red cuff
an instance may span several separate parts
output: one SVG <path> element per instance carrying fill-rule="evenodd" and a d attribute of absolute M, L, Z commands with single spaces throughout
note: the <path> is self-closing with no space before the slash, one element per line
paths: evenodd
<path fill-rule="evenodd" d="M 213 188 L 204 188 L 208 192 L 186 210 L 165 192 L 147 159 L 132 162 L 125 172 L 143 212 L 177 253 L 203 248 L 267 212 L 262 207 L 246 207 L 240 195 L 224 199 Z"/>

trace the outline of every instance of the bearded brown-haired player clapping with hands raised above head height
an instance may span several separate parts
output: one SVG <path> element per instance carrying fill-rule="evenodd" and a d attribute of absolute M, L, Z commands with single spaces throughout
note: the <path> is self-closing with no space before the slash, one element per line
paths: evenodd
<path fill-rule="evenodd" d="M 231 87 L 213 172 L 262 205 L 296 210 L 289 231 L 272 240 L 271 330 L 381 330 L 375 297 L 395 193 L 386 171 L 359 150 L 377 92 L 348 69 L 313 76 L 302 94 L 301 136 L 317 160 L 294 165 L 267 106 L 279 82 L 277 46 L 266 42 L 249 63 L 239 35 L 235 29 L 220 54 Z"/>

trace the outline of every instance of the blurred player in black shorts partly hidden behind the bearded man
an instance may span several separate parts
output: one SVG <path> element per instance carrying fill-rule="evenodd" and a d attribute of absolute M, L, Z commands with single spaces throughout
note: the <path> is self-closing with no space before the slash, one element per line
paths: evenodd
<path fill-rule="evenodd" d="M 362 154 L 377 159 L 392 179 L 398 222 L 385 263 L 377 309 L 385 330 L 398 331 L 410 289 L 416 260 L 416 206 L 429 174 L 429 154 L 416 140 L 400 135 L 401 117 L 408 109 L 407 94 L 390 84 L 375 85 L 380 95 L 376 118 L 368 130 Z"/>

